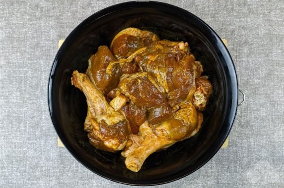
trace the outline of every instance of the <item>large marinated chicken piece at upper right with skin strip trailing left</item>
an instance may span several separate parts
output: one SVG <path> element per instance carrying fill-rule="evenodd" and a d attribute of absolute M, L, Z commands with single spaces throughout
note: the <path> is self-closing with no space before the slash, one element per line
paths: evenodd
<path fill-rule="evenodd" d="M 187 43 L 167 40 L 151 43 L 132 53 L 127 58 L 113 61 L 106 68 L 112 74 L 113 66 L 137 63 L 140 71 L 148 72 L 155 80 L 155 87 L 166 94 L 171 107 L 185 99 L 192 101 L 195 78 L 203 72 L 202 65 L 195 61 Z"/>

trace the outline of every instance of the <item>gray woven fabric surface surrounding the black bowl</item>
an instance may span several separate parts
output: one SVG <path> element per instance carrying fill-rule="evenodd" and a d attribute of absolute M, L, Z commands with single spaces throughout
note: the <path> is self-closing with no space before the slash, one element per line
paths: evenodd
<path fill-rule="evenodd" d="M 129 187 L 101 178 L 64 147 L 47 106 L 57 44 L 92 13 L 123 0 L 0 0 L 0 187 Z M 229 146 L 160 187 L 284 187 L 283 0 L 170 1 L 228 40 L 239 86 Z"/>

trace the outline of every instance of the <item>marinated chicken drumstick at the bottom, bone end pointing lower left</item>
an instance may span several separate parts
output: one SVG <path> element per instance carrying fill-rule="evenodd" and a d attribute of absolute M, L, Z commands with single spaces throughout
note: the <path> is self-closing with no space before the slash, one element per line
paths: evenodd
<path fill-rule="evenodd" d="M 126 167 L 138 172 L 145 159 L 153 152 L 169 147 L 177 141 L 192 137 L 201 127 L 202 115 L 192 103 L 183 103 L 175 115 L 159 124 L 151 125 L 146 121 L 139 135 L 131 135 L 122 155 L 126 157 Z"/>

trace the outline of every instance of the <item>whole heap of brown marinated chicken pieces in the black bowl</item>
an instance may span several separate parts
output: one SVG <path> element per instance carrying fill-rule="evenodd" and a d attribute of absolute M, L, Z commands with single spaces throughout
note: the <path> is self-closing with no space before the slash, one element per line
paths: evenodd
<path fill-rule="evenodd" d="M 136 28 L 119 32 L 110 49 L 101 46 L 90 57 L 87 75 L 72 74 L 87 98 L 90 143 L 111 152 L 125 147 L 127 168 L 138 172 L 151 153 L 201 128 L 213 90 L 202 73 L 188 43 L 159 41 Z"/>

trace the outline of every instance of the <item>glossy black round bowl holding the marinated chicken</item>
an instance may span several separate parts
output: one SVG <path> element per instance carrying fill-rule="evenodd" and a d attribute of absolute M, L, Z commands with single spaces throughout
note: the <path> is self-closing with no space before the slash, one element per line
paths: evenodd
<path fill-rule="evenodd" d="M 73 70 L 85 72 L 88 58 L 100 45 L 128 27 L 145 29 L 160 39 L 188 42 L 202 61 L 213 94 L 199 133 L 170 148 L 153 153 L 138 172 L 129 171 L 120 153 L 98 150 L 83 131 L 86 99 L 71 86 Z M 157 185 L 185 177 L 208 162 L 232 127 L 238 101 L 233 61 L 216 33 L 201 19 L 161 2 L 126 2 L 105 8 L 84 20 L 67 37 L 51 68 L 48 103 L 54 127 L 66 148 L 85 167 L 109 180 L 130 185 Z"/>

